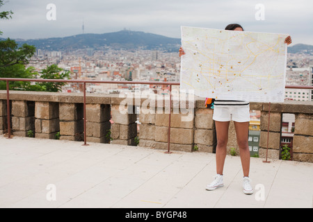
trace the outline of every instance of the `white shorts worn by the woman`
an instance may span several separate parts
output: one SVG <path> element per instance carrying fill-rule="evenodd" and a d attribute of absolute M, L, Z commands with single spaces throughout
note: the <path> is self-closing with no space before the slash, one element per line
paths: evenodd
<path fill-rule="evenodd" d="M 219 107 L 214 105 L 213 119 L 215 121 L 235 121 L 235 122 L 248 122 L 250 121 L 250 107 Z"/>

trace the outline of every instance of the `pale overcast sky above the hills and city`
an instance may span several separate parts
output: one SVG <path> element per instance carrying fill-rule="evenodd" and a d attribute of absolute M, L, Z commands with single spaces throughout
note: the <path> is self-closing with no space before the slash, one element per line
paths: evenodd
<path fill-rule="evenodd" d="M 180 37 L 181 26 L 224 29 L 239 23 L 245 31 L 286 33 L 293 44 L 313 45 L 312 0 L 9 0 L 0 11 L 1 37 L 36 39 L 83 33 L 110 33 L 124 28 Z M 47 5 L 56 6 L 56 20 L 47 20 Z M 264 20 L 255 14 L 264 5 Z M 260 14 L 258 14 L 260 15 Z"/>

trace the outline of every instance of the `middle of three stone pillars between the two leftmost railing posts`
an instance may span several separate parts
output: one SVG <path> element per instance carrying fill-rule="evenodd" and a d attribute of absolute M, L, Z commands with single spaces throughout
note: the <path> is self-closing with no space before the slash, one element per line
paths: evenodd
<path fill-rule="evenodd" d="M 58 103 L 35 102 L 35 137 L 55 139 L 60 131 Z"/>

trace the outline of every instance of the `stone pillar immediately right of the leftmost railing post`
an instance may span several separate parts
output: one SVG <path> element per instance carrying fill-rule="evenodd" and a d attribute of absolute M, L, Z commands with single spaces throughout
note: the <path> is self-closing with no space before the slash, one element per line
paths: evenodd
<path fill-rule="evenodd" d="M 12 101 L 12 128 L 16 136 L 35 135 L 35 102 Z"/>

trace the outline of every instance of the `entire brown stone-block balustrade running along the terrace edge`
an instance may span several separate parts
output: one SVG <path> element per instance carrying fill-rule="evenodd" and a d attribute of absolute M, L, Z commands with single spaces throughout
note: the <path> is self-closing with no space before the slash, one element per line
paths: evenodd
<path fill-rule="evenodd" d="M 200 152 L 214 153 L 213 110 L 205 108 L 204 99 L 200 98 L 193 103 L 181 103 L 172 101 L 170 151 L 192 152 L 196 147 Z M 181 105 L 186 109 L 175 110 Z M 269 134 L 268 103 L 250 103 L 250 110 L 262 113 L 259 157 L 265 157 L 268 147 L 268 158 L 280 158 L 282 114 L 292 113 L 296 115 L 294 160 L 313 162 L 312 102 L 271 103 Z M 118 94 L 87 94 L 87 143 L 136 146 L 139 140 L 139 146 L 167 150 L 168 112 L 168 96 L 166 99 L 163 96 L 160 102 L 160 98 L 125 99 Z M 54 139 L 59 132 L 60 139 L 83 141 L 83 94 L 10 91 L 10 114 L 15 136 L 26 137 L 31 131 L 37 138 Z M 139 132 L 137 120 L 141 123 Z M 6 133 L 7 127 L 6 92 L 0 91 L 0 134 Z M 229 133 L 227 147 L 238 148 L 233 123 Z"/>

